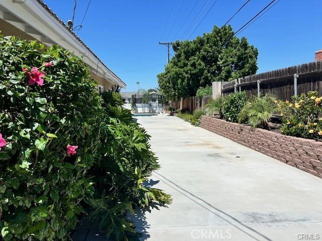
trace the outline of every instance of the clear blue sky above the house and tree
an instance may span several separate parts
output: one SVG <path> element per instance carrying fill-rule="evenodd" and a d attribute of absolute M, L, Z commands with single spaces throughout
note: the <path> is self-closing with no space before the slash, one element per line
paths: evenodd
<path fill-rule="evenodd" d="M 140 88 L 157 86 L 156 75 L 167 62 L 167 48 L 158 42 L 187 39 L 215 0 L 173 1 L 92 0 L 78 35 L 127 84 L 125 91 L 135 91 L 137 81 Z M 270 1 L 251 0 L 230 22 L 233 29 L 247 23 Z M 72 18 L 74 0 L 44 2 L 64 22 Z M 245 2 L 217 0 L 190 39 L 223 25 Z M 280 0 L 238 35 L 258 48 L 258 73 L 314 61 L 314 52 L 322 48 L 320 4 L 320 0 Z M 87 5 L 88 0 L 77 0 L 75 25 L 81 23 Z"/>

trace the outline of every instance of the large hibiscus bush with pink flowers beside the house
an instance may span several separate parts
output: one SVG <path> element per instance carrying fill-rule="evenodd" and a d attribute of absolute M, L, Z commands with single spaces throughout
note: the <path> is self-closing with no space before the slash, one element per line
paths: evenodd
<path fill-rule="evenodd" d="M 158 168 L 149 136 L 107 110 L 67 50 L 0 37 L 0 55 L 2 238 L 64 240 L 86 210 L 108 236 L 136 238 L 125 213 L 171 201 L 143 185 Z"/>

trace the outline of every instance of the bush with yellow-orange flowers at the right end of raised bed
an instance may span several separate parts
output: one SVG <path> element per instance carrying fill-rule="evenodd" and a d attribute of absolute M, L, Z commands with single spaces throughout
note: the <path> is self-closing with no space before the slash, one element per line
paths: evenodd
<path fill-rule="evenodd" d="M 322 97 L 316 91 L 293 96 L 291 101 L 276 101 L 283 116 L 284 135 L 322 139 Z"/>

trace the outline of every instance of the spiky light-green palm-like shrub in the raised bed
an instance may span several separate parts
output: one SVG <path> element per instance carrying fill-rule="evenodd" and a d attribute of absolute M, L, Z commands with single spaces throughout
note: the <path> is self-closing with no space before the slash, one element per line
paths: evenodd
<path fill-rule="evenodd" d="M 272 114 L 278 110 L 275 100 L 276 97 L 270 93 L 262 97 L 254 96 L 240 110 L 238 123 L 247 123 L 254 128 L 268 128 Z"/>

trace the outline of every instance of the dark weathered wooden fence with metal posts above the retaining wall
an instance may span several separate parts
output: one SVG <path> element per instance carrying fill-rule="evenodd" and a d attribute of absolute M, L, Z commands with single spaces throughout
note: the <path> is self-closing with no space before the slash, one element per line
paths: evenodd
<path fill-rule="evenodd" d="M 295 88 L 294 88 L 295 86 Z M 290 100 L 294 94 L 317 91 L 322 95 L 322 62 L 315 61 L 288 68 L 234 79 L 222 85 L 222 95 L 245 90 L 248 96 L 268 92 L 280 100 Z"/>

